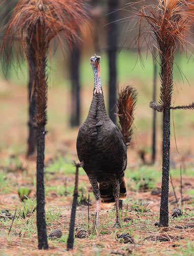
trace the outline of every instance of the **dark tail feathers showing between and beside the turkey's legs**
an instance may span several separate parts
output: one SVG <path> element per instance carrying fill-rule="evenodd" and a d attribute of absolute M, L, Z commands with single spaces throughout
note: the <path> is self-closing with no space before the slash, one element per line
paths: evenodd
<path fill-rule="evenodd" d="M 113 186 L 111 183 L 109 184 L 100 184 L 99 189 L 101 192 L 101 201 L 104 204 L 110 204 L 115 202 L 115 198 L 113 196 Z M 126 198 L 126 184 L 124 178 L 122 179 L 122 182 L 120 183 L 120 193 L 119 193 L 119 199 L 125 199 Z"/>

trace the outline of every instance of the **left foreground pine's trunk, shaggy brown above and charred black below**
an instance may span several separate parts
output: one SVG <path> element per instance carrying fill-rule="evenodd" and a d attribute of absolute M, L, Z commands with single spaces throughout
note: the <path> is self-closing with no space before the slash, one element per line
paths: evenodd
<path fill-rule="evenodd" d="M 38 248 L 48 249 L 47 230 L 45 220 L 45 190 L 44 190 L 44 158 L 45 158 L 45 125 L 47 123 L 47 52 L 44 23 L 38 22 L 30 30 L 28 37 L 28 54 L 35 63 L 35 117 L 34 125 L 37 130 L 37 231 Z M 28 58 L 29 60 L 29 58 Z"/>

